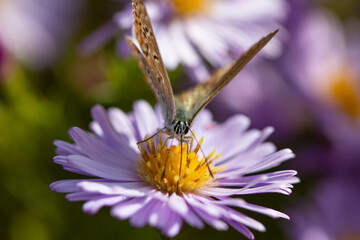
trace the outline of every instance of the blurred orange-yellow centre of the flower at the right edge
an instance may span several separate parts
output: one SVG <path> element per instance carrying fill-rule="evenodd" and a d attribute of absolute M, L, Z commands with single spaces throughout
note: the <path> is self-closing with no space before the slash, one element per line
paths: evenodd
<path fill-rule="evenodd" d="M 360 98 L 355 82 L 351 72 L 343 70 L 333 76 L 329 86 L 330 97 L 335 99 L 338 106 L 352 119 L 357 119 L 360 115 Z"/>

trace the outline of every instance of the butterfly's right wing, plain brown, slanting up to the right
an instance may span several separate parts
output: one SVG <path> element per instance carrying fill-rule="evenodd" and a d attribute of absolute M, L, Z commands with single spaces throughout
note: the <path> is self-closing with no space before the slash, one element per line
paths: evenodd
<path fill-rule="evenodd" d="M 255 57 L 255 55 L 276 35 L 276 30 L 254 44 L 238 60 L 216 71 L 208 81 L 200 83 L 175 96 L 176 108 L 186 116 L 189 124 L 196 115 Z"/>

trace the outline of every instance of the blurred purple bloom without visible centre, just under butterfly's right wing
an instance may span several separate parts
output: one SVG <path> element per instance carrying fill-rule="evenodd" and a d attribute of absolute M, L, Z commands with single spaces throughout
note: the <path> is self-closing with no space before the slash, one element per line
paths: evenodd
<path fill-rule="evenodd" d="M 259 61 L 224 88 L 209 108 L 216 119 L 247 115 L 256 128 L 273 126 L 276 139 L 288 139 L 304 123 L 305 108 L 296 92 L 270 61 Z M 274 139 L 274 138 L 273 138 Z"/>

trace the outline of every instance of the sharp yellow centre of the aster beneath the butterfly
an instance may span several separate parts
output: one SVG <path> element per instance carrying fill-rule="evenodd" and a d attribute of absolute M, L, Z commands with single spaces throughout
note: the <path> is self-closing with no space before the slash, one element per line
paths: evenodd
<path fill-rule="evenodd" d="M 186 143 L 183 143 L 182 147 L 181 144 L 168 147 L 164 145 L 161 133 L 159 139 L 156 146 L 154 138 L 139 144 L 141 153 L 136 169 L 143 180 L 162 192 L 179 195 L 196 192 L 203 187 L 214 185 L 215 174 L 225 169 L 213 165 L 213 161 L 221 155 L 215 156 L 215 150 L 206 156 L 206 159 L 202 151 L 199 153 L 203 138 L 195 148 L 193 140 L 189 141 L 189 154 Z"/>

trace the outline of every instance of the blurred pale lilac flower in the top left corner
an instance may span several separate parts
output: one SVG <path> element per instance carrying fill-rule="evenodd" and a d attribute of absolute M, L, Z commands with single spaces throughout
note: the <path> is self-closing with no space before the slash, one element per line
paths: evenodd
<path fill-rule="evenodd" d="M 0 41 L 31 68 L 51 64 L 60 52 L 81 1 L 2 0 Z"/>

